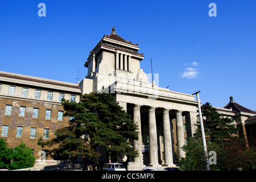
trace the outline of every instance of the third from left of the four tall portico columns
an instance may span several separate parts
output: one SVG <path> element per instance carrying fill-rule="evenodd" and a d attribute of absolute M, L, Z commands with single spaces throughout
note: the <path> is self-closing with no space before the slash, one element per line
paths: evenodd
<path fill-rule="evenodd" d="M 163 130 L 164 130 L 164 164 L 174 165 L 172 160 L 172 138 L 169 109 L 163 111 Z"/>

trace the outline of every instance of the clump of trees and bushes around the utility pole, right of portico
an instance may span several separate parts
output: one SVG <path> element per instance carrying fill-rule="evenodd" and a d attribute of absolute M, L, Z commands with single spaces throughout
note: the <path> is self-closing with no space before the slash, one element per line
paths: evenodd
<path fill-rule="evenodd" d="M 216 152 L 216 164 L 210 170 L 255 170 L 255 147 L 247 148 L 246 141 L 237 137 L 237 129 L 229 118 L 221 117 L 209 102 L 201 107 L 208 152 Z M 183 146 L 186 155 L 177 162 L 182 170 L 205 170 L 204 148 L 201 127 Z M 209 158 L 210 160 L 210 158 Z"/>

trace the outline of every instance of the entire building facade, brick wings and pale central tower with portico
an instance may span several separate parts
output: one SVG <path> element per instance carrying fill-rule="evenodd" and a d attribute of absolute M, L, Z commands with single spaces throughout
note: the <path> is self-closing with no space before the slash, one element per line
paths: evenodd
<path fill-rule="evenodd" d="M 121 38 L 113 27 L 90 51 L 84 64 L 88 72 L 79 84 L 0 71 L 0 137 L 13 148 L 22 140 L 38 158 L 38 139 L 52 139 L 57 129 L 68 125 L 61 99 L 79 102 L 81 94 L 101 90 L 112 93 L 138 126 L 133 147 L 139 156 L 127 168 L 175 166 L 174 152 L 185 156 L 181 147 L 196 132 L 197 101 L 192 94 L 160 88 L 157 75 L 148 82 L 140 68 L 144 55 L 138 51 L 138 44 Z M 223 117 L 233 118 L 240 136 L 255 138 L 256 111 L 232 97 L 224 108 L 216 108 Z"/>

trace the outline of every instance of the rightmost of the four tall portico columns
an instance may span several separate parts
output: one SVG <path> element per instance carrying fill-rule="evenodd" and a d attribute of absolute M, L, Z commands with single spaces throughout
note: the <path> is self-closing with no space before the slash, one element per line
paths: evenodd
<path fill-rule="evenodd" d="M 185 152 L 181 149 L 181 147 L 185 144 L 184 139 L 184 130 L 183 130 L 183 122 L 182 122 L 182 111 L 176 111 L 176 131 L 177 131 L 177 149 L 179 151 L 179 158 L 185 157 Z"/>

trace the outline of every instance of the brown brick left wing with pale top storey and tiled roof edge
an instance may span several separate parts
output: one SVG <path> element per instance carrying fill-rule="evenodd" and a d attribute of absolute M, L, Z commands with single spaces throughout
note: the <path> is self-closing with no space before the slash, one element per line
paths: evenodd
<path fill-rule="evenodd" d="M 79 102 L 78 84 L 0 71 L 0 137 L 14 148 L 22 140 L 38 159 L 38 139 L 68 125 L 61 99 Z"/>

